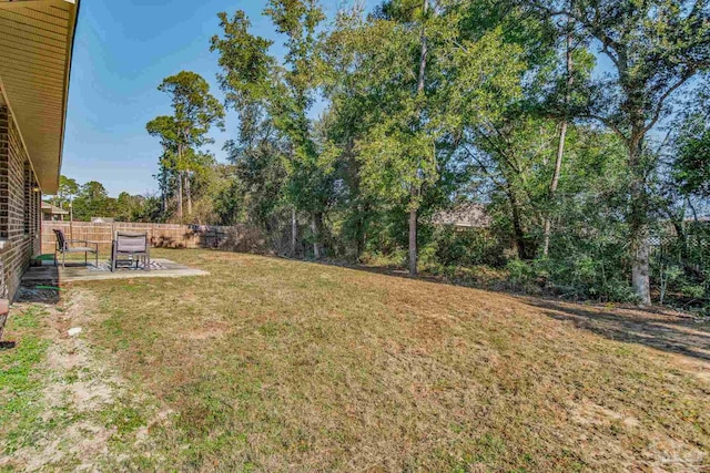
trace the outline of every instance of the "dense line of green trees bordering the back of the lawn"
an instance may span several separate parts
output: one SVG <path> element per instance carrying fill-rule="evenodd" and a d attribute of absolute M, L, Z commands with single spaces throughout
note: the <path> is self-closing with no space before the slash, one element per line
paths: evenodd
<path fill-rule="evenodd" d="M 183 222 L 194 193 L 191 220 L 262 228 L 290 256 L 407 260 L 413 275 L 485 264 L 525 288 L 643 304 L 667 292 L 672 253 L 679 294 L 707 294 L 689 247 L 704 237 L 684 217 L 710 207 L 707 2 L 386 0 L 328 16 L 271 0 L 263 16 L 283 48 L 242 10 L 217 13 L 209 44 L 237 117 L 226 163 L 209 151 L 225 112 L 206 81 L 159 88 L 162 219 Z M 440 224 L 462 208 L 486 224 Z"/>

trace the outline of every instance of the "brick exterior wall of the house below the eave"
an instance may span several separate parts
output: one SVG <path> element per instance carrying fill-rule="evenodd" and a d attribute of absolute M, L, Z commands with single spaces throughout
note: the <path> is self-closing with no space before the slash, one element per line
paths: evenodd
<path fill-rule="evenodd" d="M 13 299 L 40 253 L 41 194 L 7 106 L 0 105 L 0 297 Z"/>

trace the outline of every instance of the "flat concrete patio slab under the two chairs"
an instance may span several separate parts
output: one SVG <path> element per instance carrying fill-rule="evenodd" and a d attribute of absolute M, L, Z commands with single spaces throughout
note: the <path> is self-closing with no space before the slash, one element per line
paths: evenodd
<path fill-rule="evenodd" d="M 132 279 L 132 278 L 179 278 L 185 276 L 206 276 L 207 271 L 191 268 L 178 264 L 166 258 L 153 258 L 150 263 L 150 270 L 145 270 L 142 264 L 135 266 L 121 266 L 115 271 L 111 271 L 108 259 L 99 259 L 99 265 L 90 261 L 67 261 L 65 267 L 61 264 L 54 266 L 53 260 L 43 260 L 41 266 L 30 267 L 22 277 L 22 286 L 37 287 L 42 285 L 58 286 L 64 282 L 92 281 L 106 279 Z"/>

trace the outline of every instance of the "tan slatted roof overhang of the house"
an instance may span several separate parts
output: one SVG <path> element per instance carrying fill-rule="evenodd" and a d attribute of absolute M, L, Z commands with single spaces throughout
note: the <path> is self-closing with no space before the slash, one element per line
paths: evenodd
<path fill-rule="evenodd" d="M 44 194 L 59 186 L 79 0 L 0 0 L 0 90 Z"/>

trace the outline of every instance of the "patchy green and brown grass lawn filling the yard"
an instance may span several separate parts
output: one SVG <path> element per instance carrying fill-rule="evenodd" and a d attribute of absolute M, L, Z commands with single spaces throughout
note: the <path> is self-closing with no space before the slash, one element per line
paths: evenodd
<path fill-rule="evenodd" d="M 74 284 L 10 319 L 0 380 L 19 379 L 0 397 L 28 400 L 0 408 L 0 469 L 710 465 L 707 325 L 242 254 L 154 256 L 211 275 Z M 87 436 L 101 449 L 72 441 Z"/>

